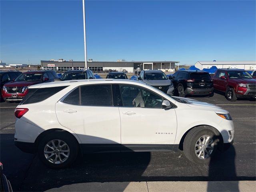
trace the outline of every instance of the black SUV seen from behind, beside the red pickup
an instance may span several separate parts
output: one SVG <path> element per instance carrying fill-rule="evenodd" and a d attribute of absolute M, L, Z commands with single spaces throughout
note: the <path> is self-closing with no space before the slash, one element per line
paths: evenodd
<path fill-rule="evenodd" d="M 174 84 L 176 94 L 213 96 L 213 80 L 208 72 L 201 70 L 179 70 L 169 76 Z"/>

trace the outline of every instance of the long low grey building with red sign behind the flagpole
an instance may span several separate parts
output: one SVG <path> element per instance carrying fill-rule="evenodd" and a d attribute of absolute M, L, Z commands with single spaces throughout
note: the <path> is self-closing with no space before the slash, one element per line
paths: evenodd
<path fill-rule="evenodd" d="M 163 70 L 174 71 L 177 61 L 134 61 L 134 62 L 104 62 L 104 61 L 88 61 L 87 67 L 93 72 L 104 72 L 108 70 L 123 71 L 133 73 L 134 70 Z M 78 70 L 84 69 L 84 61 L 44 61 L 41 60 L 41 67 L 43 69 L 52 69 L 56 71 Z"/>

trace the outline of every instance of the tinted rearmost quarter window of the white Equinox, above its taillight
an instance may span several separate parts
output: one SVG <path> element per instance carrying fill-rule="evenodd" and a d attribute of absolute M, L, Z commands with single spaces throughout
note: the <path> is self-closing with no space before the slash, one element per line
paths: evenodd
<path fill-rule="evenodd" d="M 43 100 L 46 100 L 50 96 L 53 96 L 54 94 L 58 93 L 66 87 L 68 86 L 28 89 L 28 94 L 26 94 L 26 96 L 20 102 L 20 104 L 41 102 Z"/>

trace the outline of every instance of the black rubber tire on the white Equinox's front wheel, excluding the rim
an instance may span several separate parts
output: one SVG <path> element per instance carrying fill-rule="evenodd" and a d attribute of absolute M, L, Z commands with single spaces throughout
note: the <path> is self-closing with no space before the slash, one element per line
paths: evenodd
<path fill-rule="evenodd" d="M 208 126 L 199 126 L 190 130 L 190 132 L 188 132 L 188 134 L 186 135 L 183 143 L 183 150 L 186 158 L 196 164 L 208 164 L 211 158 L 216 154 L 217 144 L 219 142 L 218 134 L 216 134 L 215 132 L 216 131 L 214 130 L 214 128 Z M 196 144 L 198 140 L 204 135 L 210 136 L 210 138 L 212 138 L 211 147 L 213 149 L 209 153 L 210 155 L 207 158 L 202 158 L 201 156 L 203 154 L 206 154 L 205 152 L 202 154 L 202 152 L 200 153 L 199 151 L 198 154 L 196 154 L 196 150 L 198 150 Z M 197 155 L 200 156 L 200 158 Z"/>

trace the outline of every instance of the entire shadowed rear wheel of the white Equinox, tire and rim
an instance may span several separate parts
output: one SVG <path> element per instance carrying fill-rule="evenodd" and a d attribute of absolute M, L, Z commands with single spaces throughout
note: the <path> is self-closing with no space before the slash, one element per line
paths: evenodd
<path fill-rule="evenodd" d="M 39 142 L 38 156 L 50 168 L 70 166 L 78 154 L 76 139 L 67 132 L 55 131 Z"/>

